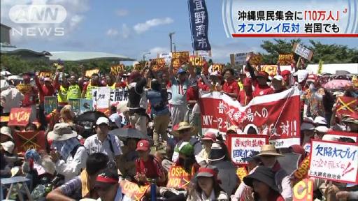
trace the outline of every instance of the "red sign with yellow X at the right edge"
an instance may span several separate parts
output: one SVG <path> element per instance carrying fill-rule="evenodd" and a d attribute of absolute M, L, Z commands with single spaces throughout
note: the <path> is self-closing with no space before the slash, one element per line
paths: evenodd
<path fill-rule="evenodd" d="M 358 112 L 358 98 L 340 96 L 337 98 L 337 114 L 351 115 Z"/>

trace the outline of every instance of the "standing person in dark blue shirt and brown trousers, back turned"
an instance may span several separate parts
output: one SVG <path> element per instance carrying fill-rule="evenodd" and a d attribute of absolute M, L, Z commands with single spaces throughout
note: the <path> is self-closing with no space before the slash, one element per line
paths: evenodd
<path fill-rule="evenodd" d="M 158 80 L 152 80 L 152 90 L 148 91 L 148 99 L 153 113 L 154 132 L 153 140 L 154 145 L 159 145 L 159 135 L 165 142 L 168 140 L 166 129 L 168 128 L 171 120 L 171 114 L 168 108 L 168 92 L 162 89 Z"/>

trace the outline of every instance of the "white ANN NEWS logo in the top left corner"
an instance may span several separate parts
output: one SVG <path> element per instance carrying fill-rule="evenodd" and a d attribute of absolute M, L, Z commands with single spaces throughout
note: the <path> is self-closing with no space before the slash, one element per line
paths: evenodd
<path fill-rule="evenodd" d="M 24 26 L 13 27 L 12 34 L 20 36 L 64 36 L 67 12 L 61 5 L 16 5 L 8 13 L 10 20 Z M 25 26 L 29 24 L 29 26 Z"/>

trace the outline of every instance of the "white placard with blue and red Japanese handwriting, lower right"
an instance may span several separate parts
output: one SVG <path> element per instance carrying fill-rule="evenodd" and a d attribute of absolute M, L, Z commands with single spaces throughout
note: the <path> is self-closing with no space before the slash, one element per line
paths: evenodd
<path fill-rule="evenodd" d="M 308 176 L 358 184 L 358 146 L 353 143 L 312 140 Z"/>

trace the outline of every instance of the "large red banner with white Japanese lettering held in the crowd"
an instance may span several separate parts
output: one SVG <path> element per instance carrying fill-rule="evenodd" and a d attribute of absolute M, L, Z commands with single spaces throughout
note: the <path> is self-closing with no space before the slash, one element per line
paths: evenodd
<path fill-rule="evenodd" d="M 201 92 L 202 128 L 225 132 L 229 124 L 241 131 L 252 126 L 259 134 L 270 135 L 270 143 L 276 148 L 300 144 L 299 101 L 299 90 L 294 88 L 256 97 L 245 107 L 227 95 Z"/>

